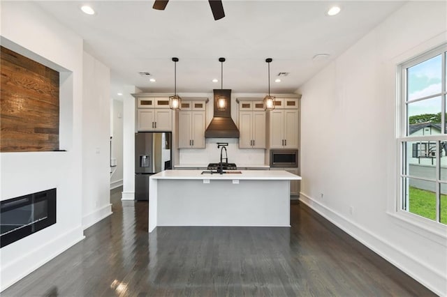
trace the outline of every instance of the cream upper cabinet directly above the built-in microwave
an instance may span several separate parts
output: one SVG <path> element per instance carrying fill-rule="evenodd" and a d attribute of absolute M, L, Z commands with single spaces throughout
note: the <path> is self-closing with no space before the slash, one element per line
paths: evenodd
<path fill-rule="evenodd" d="M 269 115 L 270 148 L 298 148 L 298 98 L 276 98 Z"/>

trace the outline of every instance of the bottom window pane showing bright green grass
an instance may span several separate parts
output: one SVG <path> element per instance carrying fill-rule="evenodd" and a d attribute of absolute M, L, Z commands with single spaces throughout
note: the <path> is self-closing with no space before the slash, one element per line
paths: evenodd
<path fill-rule="evenodd" d="M 436 219 L 436 183 L 405 178 L 404 211 L 430 220 Z"/>

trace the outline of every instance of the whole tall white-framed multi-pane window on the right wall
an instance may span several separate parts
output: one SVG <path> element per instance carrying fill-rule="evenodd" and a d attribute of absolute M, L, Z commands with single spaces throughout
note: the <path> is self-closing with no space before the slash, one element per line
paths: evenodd
<path fill-rule="evenodd" d="M 447 45 L 400 66 L 399 208 L 447 224 Z"/>

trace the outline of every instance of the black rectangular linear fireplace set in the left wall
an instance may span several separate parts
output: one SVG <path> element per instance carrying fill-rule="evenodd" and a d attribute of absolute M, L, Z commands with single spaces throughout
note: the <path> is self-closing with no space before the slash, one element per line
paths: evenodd
<path fill-rule="evenodd" d="M 56 188 L 0 201 L 0 248 L 56 223 Z"/>

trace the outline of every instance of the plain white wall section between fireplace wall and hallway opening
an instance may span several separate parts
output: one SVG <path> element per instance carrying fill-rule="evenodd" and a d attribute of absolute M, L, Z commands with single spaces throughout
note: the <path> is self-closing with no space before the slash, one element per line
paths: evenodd
<path fill-rule="evenodd" d="M 84 52 L 82 226 L 112 214 L 110 204 L 110 70 Z"/>

